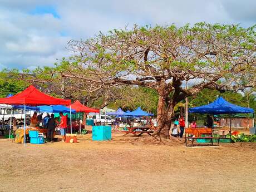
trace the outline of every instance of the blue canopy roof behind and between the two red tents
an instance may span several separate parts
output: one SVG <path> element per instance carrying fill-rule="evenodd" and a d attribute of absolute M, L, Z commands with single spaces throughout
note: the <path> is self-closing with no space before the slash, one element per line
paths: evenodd
<path fill-rule="evenodd" d="M 24 109 L 24 105 L 14 105 L 13 106 L 15 109 Z M 70 109 L 68 107 L 65 107 L 63 105 L 53 105 L 53 106 L 48 106 L 48 105 L 42 105 L 38 107 L 31 107 L 31 106 L 26 106 L 26 110 L 32 110 L 32 111 L 40 111 L 40 112 L 52 112 L 52 113 L 58 113 L 58 112 L 63 112 L 63 113 L 69 113 Z M 75 114 L 75 110 L 71 110 L 72 114 Z"/>

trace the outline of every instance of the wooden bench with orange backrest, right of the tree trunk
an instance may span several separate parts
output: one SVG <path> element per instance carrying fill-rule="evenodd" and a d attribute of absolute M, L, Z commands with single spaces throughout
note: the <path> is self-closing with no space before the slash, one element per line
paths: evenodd
<path fill-rule="evenodd" d="M 188 136 L 186 136 L 188 134 Z M 207 134 L 210 136 L 201 136 L 202 134 Z M 194 136 L 189 136 L 189 135 L 194 135 Z M 218 140 L 218 145 L 219 145 L 219 137 L 213 137 L 212 136 L 212 130 L 210 128 L 187 128 L 185 129 L 185 143 L 186 146 L 188 145 L 188 140 L 192 140 L 192 144 L 190 146 L 194 145 L 194 139 L 209 139 L 211 140 L 211 145 L 213 145 L 213 139 Z"/>

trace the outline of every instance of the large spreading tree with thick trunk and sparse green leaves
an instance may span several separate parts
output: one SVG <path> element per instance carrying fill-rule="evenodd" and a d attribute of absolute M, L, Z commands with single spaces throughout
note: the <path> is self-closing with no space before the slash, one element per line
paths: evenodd
<path fill-rule="evenodd" d="M 123 85 L 154 88 L 159 95 L 158 133 L 168 136 L 174 107 L 186 97 L 204 88 L 223 92 L 255 86 L 255 34 L 255 26 L 135 25 L 69 42 L 73 61 L 59 72 L 76 80 L 81 91 Z"/>

